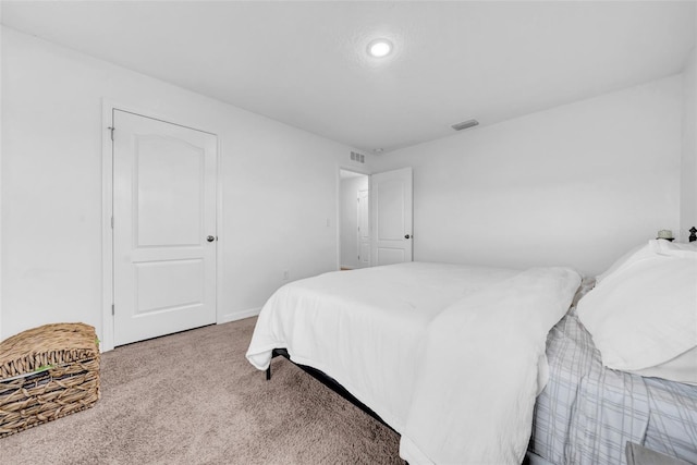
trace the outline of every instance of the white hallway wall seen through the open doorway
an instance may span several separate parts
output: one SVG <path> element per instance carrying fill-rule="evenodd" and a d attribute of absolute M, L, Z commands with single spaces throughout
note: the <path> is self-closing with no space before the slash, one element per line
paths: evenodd
<path fill-rule="evenodd" d="M 368 176 L 341 180 L 339 193 L 341 266 L 358 268 L 358 191 L 368 188 Z"/>

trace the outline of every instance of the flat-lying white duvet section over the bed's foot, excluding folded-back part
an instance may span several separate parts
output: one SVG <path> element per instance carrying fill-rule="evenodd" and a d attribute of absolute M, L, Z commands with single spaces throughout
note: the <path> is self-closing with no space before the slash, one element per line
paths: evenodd
<path fill-rule="evenodd" d="M 401 432 L 430 320 L 463 296 L 516 273 L 407 262 L 295 281 L 261 309 L 247 359 L 266 369 L 271 351 L 285 347 L 293 362 L 331 376 Z"/>

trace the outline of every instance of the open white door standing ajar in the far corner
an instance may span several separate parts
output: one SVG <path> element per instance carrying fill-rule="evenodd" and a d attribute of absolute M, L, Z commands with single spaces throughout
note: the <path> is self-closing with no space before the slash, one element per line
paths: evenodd
<path fill-rule="evenodd" d="M 412 168 L 372 174 L 370 180 L 372 265 L 412 261 Z"/>

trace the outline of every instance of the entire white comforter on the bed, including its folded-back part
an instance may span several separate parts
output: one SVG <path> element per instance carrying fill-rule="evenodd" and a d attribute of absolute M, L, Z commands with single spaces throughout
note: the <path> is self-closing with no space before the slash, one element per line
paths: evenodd
<path fill-rule="evenodd" d="M 269 298 L 247 358 L 266 369 L 286 347 L 337 379 L 402 433 L 409 463 L 519 463 L 546 334 L 578 282 L 423 262 L 326 273 Z"/>

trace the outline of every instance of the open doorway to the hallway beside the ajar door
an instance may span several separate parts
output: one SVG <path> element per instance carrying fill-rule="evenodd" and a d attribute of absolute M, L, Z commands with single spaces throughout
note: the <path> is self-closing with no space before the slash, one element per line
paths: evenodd
<path fill-rule="evenodd" d="M 339 267 L 370 266 L 370 176 L 339 170 Z"/>

